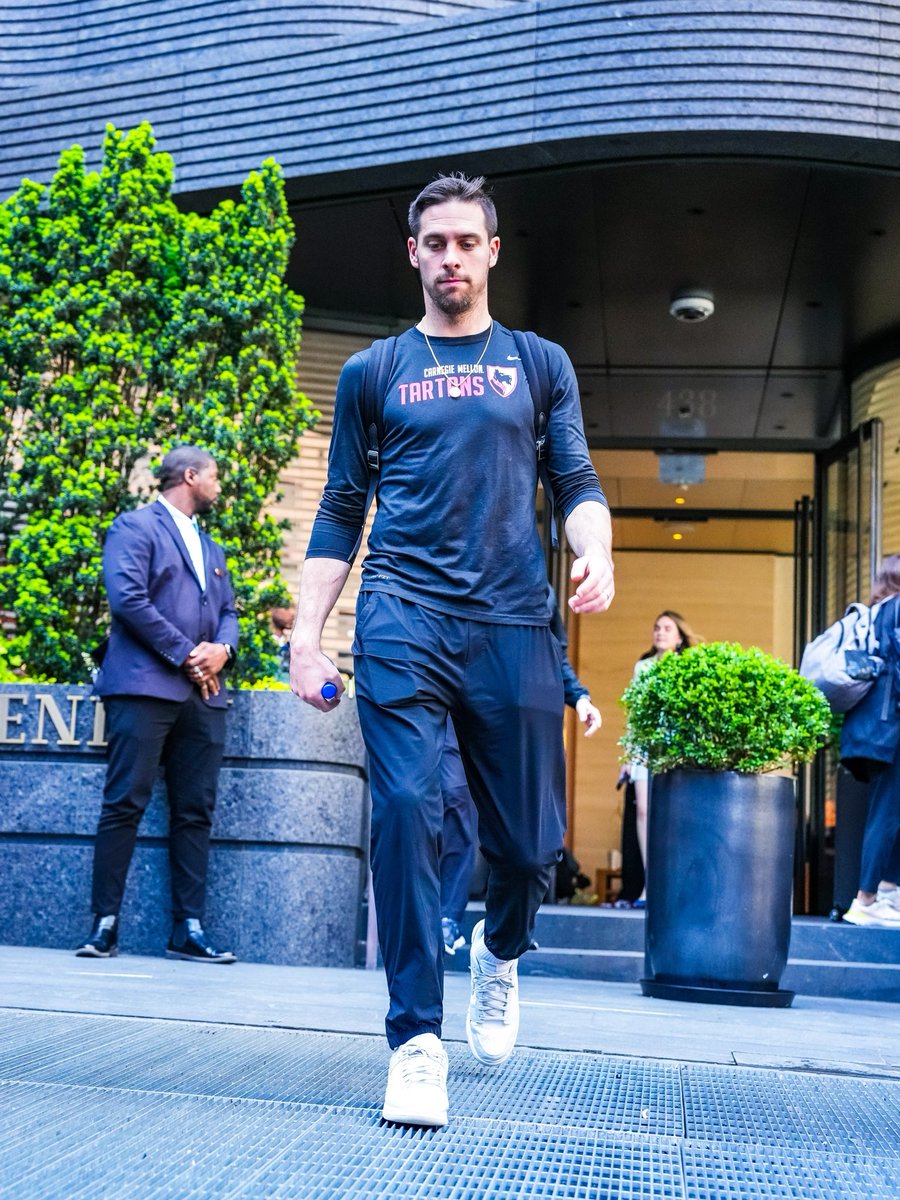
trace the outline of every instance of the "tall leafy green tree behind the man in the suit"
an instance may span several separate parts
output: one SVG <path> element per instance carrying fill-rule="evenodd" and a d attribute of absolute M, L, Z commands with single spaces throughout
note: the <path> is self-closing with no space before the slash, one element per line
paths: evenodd
<path fill-rule="evenodd" d="M 103 636 L 103 539 L 146 500 L 170 445 L 216 457 L 210 532 L 241 614 L 239 671 L 272 672 L 268 608 L 287 601 L 282 524 L 265 511 L 314 420 L 295 382 L 302 300 L 283 277 L 293 241 L 272 161 L 241 202 L 180 212 L 150 126 L 112 126 L 100 172 L 79 146 L 49 186 L 0 205 L 0 607 L 11 661 L 78 679 Z"/>

